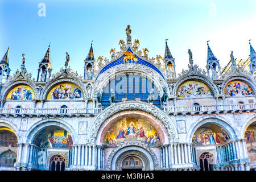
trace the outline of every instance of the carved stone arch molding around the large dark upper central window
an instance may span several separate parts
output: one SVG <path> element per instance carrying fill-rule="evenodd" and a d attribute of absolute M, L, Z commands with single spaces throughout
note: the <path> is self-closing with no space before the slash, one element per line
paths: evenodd
<path fill-rule="evenodd" d="M 115 75 L 121 73 L 141 73 L 142 75 L 146 75 L 150 80 L 154 81 L 155 86 L 159 89 L 160 96 L 163 95 L 163 88 L 166 88 L 167 94 L 170 97 L 170 89 L 168 89 L 168 84 L 166 82 L 166 78 L 163 78 L 158 72 L 154 71 L 154 69 L 149 68 L 147 66 L 141 64 L 120 64 L 115 67 L 109 68 L 104 73 L 97 78 L 94 86 L 93 86 L 93 97 L 97 96 L 98 90 L 100 93 L 103 92 L 104 87 L 108 84 L 109 79 L 113 78 Z"/>

